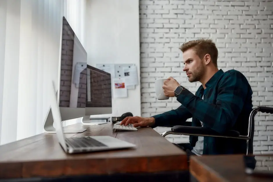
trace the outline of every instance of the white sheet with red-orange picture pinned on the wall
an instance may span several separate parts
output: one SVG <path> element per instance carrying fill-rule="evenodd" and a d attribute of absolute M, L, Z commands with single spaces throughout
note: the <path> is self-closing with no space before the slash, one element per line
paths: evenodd
<path fill-rule="evenodd" d="M 113 85 L 114 98 L 127 97 L 125 78 L 113 78 Z"/>

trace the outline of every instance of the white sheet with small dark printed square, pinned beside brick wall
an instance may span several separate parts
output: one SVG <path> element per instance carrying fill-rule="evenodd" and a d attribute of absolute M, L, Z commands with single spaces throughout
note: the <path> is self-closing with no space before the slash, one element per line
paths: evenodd
<path fill-rule="evenodd" d="M 137 85 L 137 67 L 136 66 L 126 66 L 123 67 L 123 73 L 125 78 L 126 86 Z"/>

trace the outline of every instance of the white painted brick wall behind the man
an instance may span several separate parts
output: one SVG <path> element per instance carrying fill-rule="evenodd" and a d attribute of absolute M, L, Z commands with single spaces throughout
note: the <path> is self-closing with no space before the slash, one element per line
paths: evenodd
<path fill-rule="evenodd" d="M 220 69 L 236 69 L 247 77 L 254 107 L 273 107 L 273 1 L 140 0 L 139 8 L 143 117 L 179 106 L 173 98 L 156 99 L 156 78 L 173 76 L 195 93 L 200 83 L 188 82 L 179 46 L 202 37 L 219 48 Z M 272 153 L 273 116 L 258 113 L 255 126 L 254 153 Z M 155 128 L 159 133 L 168 129 Z M 188 136 L 167 139 L 188 142 Z"/>

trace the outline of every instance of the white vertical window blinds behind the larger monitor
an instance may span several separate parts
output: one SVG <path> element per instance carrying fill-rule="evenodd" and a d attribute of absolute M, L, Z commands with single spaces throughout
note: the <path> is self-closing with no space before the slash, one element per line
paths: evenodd
<path fill-rule="evenodd" d="M 85 46 L 86 0 L 0 1 L 1 145 L 43 132 L 65 16 Z M 73 121 L 75 122 L 75 121 Z"/>

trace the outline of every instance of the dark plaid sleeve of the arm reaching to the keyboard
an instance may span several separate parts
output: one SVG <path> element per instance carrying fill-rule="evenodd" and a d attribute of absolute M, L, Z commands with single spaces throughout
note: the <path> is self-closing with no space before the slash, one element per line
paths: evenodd
<path fill-rule="evenodd" d="M 181 105 L 177 109 L 173 109 L 152 117 L 155 118 L 155 125 L 153 125 L 153 128 L 164 125 L 183 126 L 183 122 L 185 122 L 188 118 L 191 118 L 192 114 L 183 105 Z"/>

